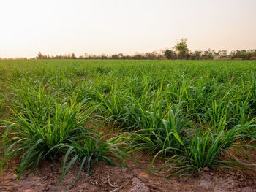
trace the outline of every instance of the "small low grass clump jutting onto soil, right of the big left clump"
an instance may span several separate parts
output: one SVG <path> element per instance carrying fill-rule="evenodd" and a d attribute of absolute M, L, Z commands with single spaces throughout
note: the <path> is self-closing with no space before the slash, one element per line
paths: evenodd
<path fill-rule="evenodd" d="M 86 173 L 90 174 L 92 166 L 94 166 L 94 164 L 98 164 L 99 161 L 104 161 L 107 164 L 118 166 L 114 160 L 119 161 L 121 165 L 125 165 L 124 157 L 129 157 L 127 153 L 124 153 L 123 150 L 120 150 L 116 146 L 118 137 L 105 141 L 102 134 L 83 131 L 82 135 L 83 137 L 79 136 L 77 139 L 73 139 L 70 145 L 64 146 L 67 148 L 67 153 L 64 157 L 62 177 L 59 183 L 64 179 L 65 174 L 67 174 L 67 171 L 72 164 L 75 164 L 77 161 L 80 162 L 80 169 L 72 185 L 74 185 L 78 180 L 83 168 L 86 168 Z M 71 160 L 65 167 L 69 157 L 71 157 Z"/>

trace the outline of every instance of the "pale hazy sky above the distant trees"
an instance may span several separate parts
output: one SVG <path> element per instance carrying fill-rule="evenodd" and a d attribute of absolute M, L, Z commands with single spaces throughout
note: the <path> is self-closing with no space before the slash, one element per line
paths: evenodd
<path fill-rule="evenodd" d="M 0 57 L 256 49 L 256 0 L 0 0 Z"/>

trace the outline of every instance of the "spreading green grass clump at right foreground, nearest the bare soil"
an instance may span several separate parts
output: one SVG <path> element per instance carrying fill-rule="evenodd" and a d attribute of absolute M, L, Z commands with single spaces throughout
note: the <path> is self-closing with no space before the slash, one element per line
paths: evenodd
<path fill-rule="evenodd" d="M 254 120 L 255 121 L 255 120 Z M 233 164 L 239 164 L 241 166 L 249 166 L 252 168 L 253 165 L 243 164 L 237 162 L 236 159 L 230 161 L 223 161 L 224 155 L 227 155 L 227 151 L 236 150 L 236 147 L 253 147 L 250 145 L 244 145 L 237 143 L 244 139 L 243 132 L 249 127 L 255 127 L 253 122 L 246 123 L 244 125 L 237 125 L 227 130 L 225 123 L 219 123 L 217 128 L 194 128 L 195 134 L 190 134 L 189 137 L 184 137 L 181 134 L 176 137 L 177 141 L 180 142 L 181 147 L 169 147 L 160 150 L 155 155 L 152 164 L 158 155 L 167 153 L 168 151 L 176 150 L 176 154 L 171 157 L 165 157 L 165 163 L 159 167 L 158 172 L 162 169 L 177 169 L 178 171 L 173 172 L 170 176 L 179 174 L 187 175 L 194 172 L 200 175 L 200 170 L 204 167 L 213 166 L 225 166 L 231 167 Z M 176 145 L 177 146 L 177 145 Z M 152 165 L 151 165 L 152 166 Z"/>

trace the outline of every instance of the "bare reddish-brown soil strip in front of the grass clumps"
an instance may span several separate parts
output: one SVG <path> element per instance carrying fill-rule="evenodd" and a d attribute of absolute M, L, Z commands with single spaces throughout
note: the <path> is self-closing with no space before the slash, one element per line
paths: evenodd
<path fill-rule="evenodd" d="M 256 191 L 256 172 L 235 169 L 204 169 L 197 177 L 165 178 L 148 173 L 150 158 L 140 155 L 139 164 L 127 162 L 129 168 L 109 166 L 99 163 L 87 176 L 82 172 L 74 187 L 69 189 L 78 172 L 78 165 L 69 169 L 59 188 L 56 185 L 61 177 L 61 163 L 45 162 L 36 172 L 23 174 L 15 180 L 15 163 L 9 164 L 0 177 L 0 191 Z"/>

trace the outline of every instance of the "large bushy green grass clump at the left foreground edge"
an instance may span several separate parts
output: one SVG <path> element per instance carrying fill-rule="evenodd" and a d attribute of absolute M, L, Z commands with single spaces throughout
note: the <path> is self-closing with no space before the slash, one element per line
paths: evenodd
<path fill-rule="evenodd" d="M 7 149 L 1 159 L 0 172 L 7 161 L 15 157 L 20 158 L 19 177 L 25 169 L 32 171 L 43 158 L 54 159 L 61 153 L 61 145 L 79 134 L 88 119 L 80 118 L 81 107 L 82 104 L 55 101 L 53 107 L 45 106 L 39 112 L 31 111 L 31 106 L 22 110 L 17 106 L 12 108 L 13 118 L 1 120 L 7 126 L 2 139 L 2 147 Z"/>

